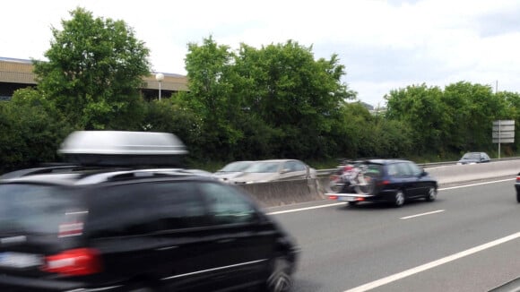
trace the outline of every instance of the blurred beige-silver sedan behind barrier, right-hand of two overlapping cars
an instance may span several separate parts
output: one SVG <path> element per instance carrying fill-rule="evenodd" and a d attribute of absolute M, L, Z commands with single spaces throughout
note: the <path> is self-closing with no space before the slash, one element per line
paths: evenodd
<path fill-rule="evenodd" d="M 254 161 L 241 176 L 230 178 L 235 184 L 265 183 L 280 180 L 316 178 L 316 169 L 297 159 Z"/>

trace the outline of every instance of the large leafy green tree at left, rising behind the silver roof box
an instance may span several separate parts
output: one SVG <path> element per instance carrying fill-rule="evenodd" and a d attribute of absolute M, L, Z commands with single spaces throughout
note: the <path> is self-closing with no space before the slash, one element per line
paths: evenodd
<path fill-rule="evenodd" d="M 52 28 L 48 61 L 33 61 L 39 90 L 79 128 L 137 128 L 149 49 L 124 21 L 94 18 L 83 8 L 70 14 L 63 30 Z"/>

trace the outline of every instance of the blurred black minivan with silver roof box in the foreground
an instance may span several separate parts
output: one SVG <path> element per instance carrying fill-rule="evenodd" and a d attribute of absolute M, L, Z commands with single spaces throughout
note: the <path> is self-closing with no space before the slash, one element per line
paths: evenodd
<path fill-rule="evenodd" d="M 72 137 L 74 166 L 0 179 L 0 291 L 289 290 L 292 237 L 237 186 L 178 168 L 169 134 Z"/>

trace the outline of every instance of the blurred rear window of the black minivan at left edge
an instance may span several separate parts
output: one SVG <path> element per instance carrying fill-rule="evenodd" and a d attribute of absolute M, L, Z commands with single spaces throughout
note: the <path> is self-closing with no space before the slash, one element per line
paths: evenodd
<path fill-rule="evenodd" d="M 0 235 L 56 234 L 79 213 L 64 187 L 0 184 Z"/>

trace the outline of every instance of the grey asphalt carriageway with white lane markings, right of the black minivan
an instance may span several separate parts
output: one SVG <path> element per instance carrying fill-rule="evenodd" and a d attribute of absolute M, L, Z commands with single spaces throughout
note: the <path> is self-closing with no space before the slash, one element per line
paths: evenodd
<path fill-rule="evenodd" d="M 520 277 L 514 179 L 439 189 L 403 208 L 309 202 L 266 210 L 301 248 L 295 292 L 489 291 Z"/>

